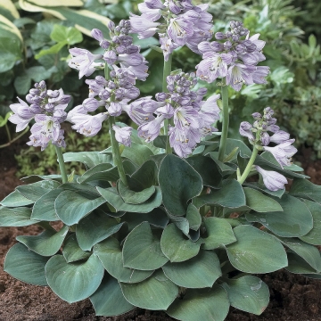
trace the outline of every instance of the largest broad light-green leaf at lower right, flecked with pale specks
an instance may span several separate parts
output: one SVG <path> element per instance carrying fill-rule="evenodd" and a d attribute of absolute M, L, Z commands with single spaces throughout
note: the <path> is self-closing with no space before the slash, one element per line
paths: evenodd
<path fill-rule="evenodd" d="M 269 273 L 287 266 L 286 253 L 275 236 L 254 226 L 236 226 L 237 242 L 226 245 L 228 259 L 245 273 Z"/>

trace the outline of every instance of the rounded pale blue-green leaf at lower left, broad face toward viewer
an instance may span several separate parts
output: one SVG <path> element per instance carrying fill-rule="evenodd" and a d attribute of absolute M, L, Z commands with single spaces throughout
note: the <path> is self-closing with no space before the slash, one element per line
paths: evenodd
<path fill-rule="evenodd" d="M 103 264 L 95 255 L 86 262 L 73 263 L 67 263 L 62 255 L 54 255 L 45 265 L 48 285 L 69 303 L 92 295 L 102 282 L 103 271 Z"/>

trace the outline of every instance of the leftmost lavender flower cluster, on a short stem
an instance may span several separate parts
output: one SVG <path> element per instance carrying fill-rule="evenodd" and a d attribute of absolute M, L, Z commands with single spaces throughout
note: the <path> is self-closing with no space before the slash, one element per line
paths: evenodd
<path fill-rule="evenodd" d="M 35 119 L 36 123 L 30 129 L 29 145 L 41 146 L 42 151 L 50 141 L 58 147 L 65 147 L 61 123 L 67 118 L 64 110 L 70 99 L 71 96 L 64 95 L 62 89 L 46 89 L 45 81 L 42 80 L 26 96 L 30 105 L 19 97 L 19 103 L 10 105 L 14 114 L 9 120 L 17 125 L 16 131 L 19 132 L 28 126 L 31 119 Z"/>

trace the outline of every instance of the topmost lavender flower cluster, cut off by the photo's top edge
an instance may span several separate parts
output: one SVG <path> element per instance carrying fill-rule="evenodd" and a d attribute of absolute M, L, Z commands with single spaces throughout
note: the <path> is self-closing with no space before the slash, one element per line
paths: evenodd
<path fill-rule="evenodd" d="M 138 4 L 141 16 L 131 14 L 131 32 L 143 39 L 159 33 L 161 49 L 166 61 L 179 46 L 187 45 L 200 53 L 197 45 L 211 38 L 212 16 L 208 4 L 193 5 L 191 0 L 145 0 Z M 156 22 L 163 18 L 164 22 Z"/>

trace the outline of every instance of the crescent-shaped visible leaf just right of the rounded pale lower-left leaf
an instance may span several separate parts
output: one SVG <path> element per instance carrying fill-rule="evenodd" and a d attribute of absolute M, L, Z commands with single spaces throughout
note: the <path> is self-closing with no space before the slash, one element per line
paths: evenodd
<path fill-rule="evenodd" d="M 124 267 L 119 241 L 113 237 L 109 237 L 107 240 L 95 244 L 94 252 L 102 261 L 103 268 L 119 282 L 137 283 L 152 276 L 153 270 L 141 271 Z"/>

